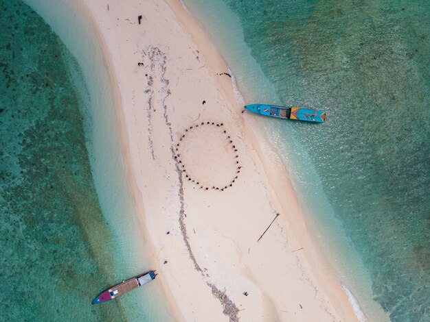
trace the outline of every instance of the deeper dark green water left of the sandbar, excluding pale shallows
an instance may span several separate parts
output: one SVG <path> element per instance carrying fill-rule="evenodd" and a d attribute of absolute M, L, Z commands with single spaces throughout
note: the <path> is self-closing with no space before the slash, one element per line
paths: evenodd
<path fill-rule="evenodd" d="M 125 321 L 92 181 L 73 61 L 18 0 L 0 1 L 0 293 L 5 321 Z M 76 63 L 75 63 L 76 64 Z"/>

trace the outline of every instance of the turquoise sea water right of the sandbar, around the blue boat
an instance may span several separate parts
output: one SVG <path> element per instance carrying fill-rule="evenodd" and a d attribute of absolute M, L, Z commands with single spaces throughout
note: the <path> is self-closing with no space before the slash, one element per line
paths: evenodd
<path fill-rule="evenodd" d="M 217 43 L 246 103 L 326 110 L 323 125 L 261 123 L 313 232 L 326 235 L 315 238 L 335 244 L 330 256 L 367 317 L 429 321 L 428 2 L 185 5 Z"/>

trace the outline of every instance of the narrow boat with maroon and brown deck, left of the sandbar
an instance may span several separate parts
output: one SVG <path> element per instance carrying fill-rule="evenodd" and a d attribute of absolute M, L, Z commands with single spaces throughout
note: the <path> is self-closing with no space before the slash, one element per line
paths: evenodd
<path fill-rule="evenodd" d="M 100 304 L 106 301 L 110 301 L 111 299 L 115 299 L 120 295 L 123 295 L 135 288 L 138 288 L 146 283 L 151 282 L 155 279 L 157 274 L 155 271 L 149 271 L 148 273 L 143 273 L 141 275 L 137 275 L 135 277 L 131 277 L 128 280 L 122 281 L 120 284 L 116 284 L 109 288 L 109 290 L 104 290 L 98 297 L 93 299 L 93 304 Z"/>

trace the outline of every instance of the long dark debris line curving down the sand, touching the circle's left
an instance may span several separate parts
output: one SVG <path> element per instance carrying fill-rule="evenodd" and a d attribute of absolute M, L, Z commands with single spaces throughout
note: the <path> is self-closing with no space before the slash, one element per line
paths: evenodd
<path fill-rule="evenodd" d="M 173 132 L 172 132 L 171 123 L 169 122 L 169 118 L 168 118 L 167 106 L 164 103 L 166 98 L 170 95 L 170 89 L 168 88 L 169 81 L 168 79 L 164 78 L 164 74 L 166 73 L 166 61 L 167 61 L 166 54 L 160 51 L 157 47 L 150 47 L 148 49 L 148 57 L 150 58 L 150 62 L 151 62 L 150 64 L 151 71 L 153 72 L 155 68 L 158 69 L 160 73 L 160 81 L 161 81 L 161 84 L 163 84 L 160 92 L 162 92 L 164 95 L 163 101 L 162 101 L 163 108 L 164 108 L 164 119 L 166 121 L 166 125 L 169 128 L 170 151 L 172 152 L 172 159 L 175 160 L 175 167 L 176 167 L 176 171 L 179 179 L 179 201 L 181 204 L 181 209 L 179 210 L 179 226 L 181 227 L 181 233 L 183 236 L 183 241 L 185 243 L 185 246 L 188 249 L 188 253 L 190 255 L 192 262 L 194 263 L 194 269 L 196 269 L 196 271 L 199 271 L 201 275 L 204 276 L 202 269 L 200 268 L 199 264 L 196 261 L 196 258 L 194 257 L 194 254 L 192 253 L 190 243 L 188 242 L 188 235 L 187 235 L 187 230 L 185 225 L 186 215 L 184 211 L 185 205 L 184 205 L 184 197 L 183 197 L 182 171 L 179 168 L 179 162 L 174 158 L 175 150 L 174 150 Z M 214 297 L 216 297 L 220 301 L 221 305 L 223 306 L 223 313 L 227 315 L 227 317 L 229 317 L 230 322 L 238 322 L 239 309 L 233 303 L 233 301 L 229 299 L 229 297 L 225 292 L 221 292 L 214 284 L 211 284 L 209 282 L 206 282 L 206 284 L 212 289 L 212 294 L 214 295 Z"/>

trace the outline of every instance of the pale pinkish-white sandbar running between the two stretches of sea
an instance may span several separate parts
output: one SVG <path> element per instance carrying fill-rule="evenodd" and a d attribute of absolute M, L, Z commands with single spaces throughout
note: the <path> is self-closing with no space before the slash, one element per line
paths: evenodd
<path fill-rule="evenodd" d="M 76 3 L 100 35 L 139 223 L 177 320 L 356 321 L 181 1 Z"/>

